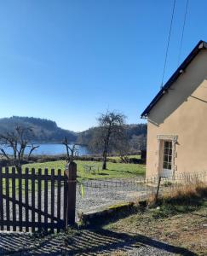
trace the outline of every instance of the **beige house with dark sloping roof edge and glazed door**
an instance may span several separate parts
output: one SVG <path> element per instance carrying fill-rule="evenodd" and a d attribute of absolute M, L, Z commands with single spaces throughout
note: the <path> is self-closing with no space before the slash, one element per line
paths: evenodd
<path fill-rule="evenodd" d="M 147 106 L 147 177 L 207 170 L 207 43 L 199 41 Z"/>

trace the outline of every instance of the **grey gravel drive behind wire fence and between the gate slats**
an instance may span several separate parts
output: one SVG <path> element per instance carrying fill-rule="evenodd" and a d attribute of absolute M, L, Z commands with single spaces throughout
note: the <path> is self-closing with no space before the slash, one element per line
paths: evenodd
<path fill-rule="evenodd" d="M 61 198 L 63 199 L 63 187 L 61 187 Z M 152 193 L 152 188 L 148 188 L 146 185 L 135 183 L 135 180 L 125 179 L 113 179 L 113 180 L 100 180 L 84 182 L 82 185 L 77 185 L 77 203 L 76 203 L 76 220 L 78 221 L 78 212 L 95 212 L 105 207 L 109 207 L 115 204 L 129 201 L 138 201 L 143 196 Z M 55 212 L 57 212 L 57 197 L 55 191 Z M 17 193 L 18 195 L 18 193 Z M 44 194 L 42 197 L 42 211 L 44 208 Z M 37 197 L 36 197 L 37 199 Z M 23 203 L 25 203 L 25 197 L 22 197 Z M 4 219 L 6 219 L 6 202 L 4 202 Z M 48 212 L 51 213 L 51 192 L 48 193 Z M 32 198 L 29 195 L 29 206 L 32 206 Z M 35 201 L 35 207 L 37 208 L 37 200 Z M 13 218 L 12 202 L 9 202 L 9 218 Z M 25 207 L 22 208 L 23 220 L 25 216 Z M 61 216 L 63 218 L 63 205 L 61 206 Z M 16 206 L 16 220 L 19 219 L 19 207 Z M 29 211 L 29 221 L 32 220 L 32 212 Z M 35 220 L 37 221 L 37 213 L 35 213 Z M 43 221 L 43 216 L 42 216 Z M 48 219 L 50 222 L 50 219 Z"/>

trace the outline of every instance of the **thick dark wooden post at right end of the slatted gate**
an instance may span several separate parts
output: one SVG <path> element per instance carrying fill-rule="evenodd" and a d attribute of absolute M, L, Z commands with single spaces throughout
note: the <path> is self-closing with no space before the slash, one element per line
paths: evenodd
<path fill-rule="evenodd" d="M 70 162 L 66 165 L 66 176 L 68 177 L 67 189 L 67 225 L 75 224 L 76 216 L 76 178 L 77 178 L 77 164 Z"/>

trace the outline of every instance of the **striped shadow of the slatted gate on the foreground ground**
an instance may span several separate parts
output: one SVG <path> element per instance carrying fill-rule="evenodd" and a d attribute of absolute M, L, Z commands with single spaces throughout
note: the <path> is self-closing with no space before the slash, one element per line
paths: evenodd
<path fill-rule="evenodd" d="M 37 238 L 29 234 L 0 233 L 0 255 L 196 255 L 147 236 L 109 230 L 78 230 Z M 114 254 L 115 255 L 115 254 Z"/>

